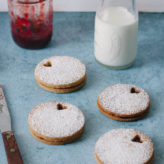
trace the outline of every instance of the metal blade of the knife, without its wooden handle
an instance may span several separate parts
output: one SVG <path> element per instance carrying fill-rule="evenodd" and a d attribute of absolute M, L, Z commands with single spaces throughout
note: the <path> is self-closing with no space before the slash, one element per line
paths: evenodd
<path fill-rule="evenodd" d="M 11 131 L 11 119 L 3 94 L 2 86 L 0 85 L 0 130 L 1 132 Z"/>

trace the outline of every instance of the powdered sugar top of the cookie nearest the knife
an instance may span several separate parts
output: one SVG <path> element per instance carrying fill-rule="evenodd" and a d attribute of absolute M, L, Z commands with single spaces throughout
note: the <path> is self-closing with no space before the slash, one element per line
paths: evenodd
<path fill-rule="evenodd" d="M 66 106 L 58 110 L 57 104 Z M 36 106 L 29 114 L 32 129 L 43 136 L 67 137 L 79 131 L 85 124 L 80 109 L 64 102 L 47 102 Z"/>

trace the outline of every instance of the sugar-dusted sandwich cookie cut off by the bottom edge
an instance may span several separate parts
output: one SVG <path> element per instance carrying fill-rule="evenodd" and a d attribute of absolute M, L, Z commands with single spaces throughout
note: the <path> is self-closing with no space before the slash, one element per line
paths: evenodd
<path fill-rule="evenodd" d="M 151 139 L 135 129 L 114 129 L 102 135 L 95 146 L 98 164 L 151 164 Z"/>

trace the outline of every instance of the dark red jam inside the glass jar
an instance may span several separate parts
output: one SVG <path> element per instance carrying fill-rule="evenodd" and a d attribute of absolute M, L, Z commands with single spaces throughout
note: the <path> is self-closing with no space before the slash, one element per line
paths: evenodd
<path fill-rule="evenodd" d="M 52 18 L 51 18 L 52 19 Z M 45 47 L 52 36 L 52 24 L 45 20 L 30 20 L 28 14 L 11 20 L 12 36 L 15 42 L 24 48 L 39 49 Z"/>

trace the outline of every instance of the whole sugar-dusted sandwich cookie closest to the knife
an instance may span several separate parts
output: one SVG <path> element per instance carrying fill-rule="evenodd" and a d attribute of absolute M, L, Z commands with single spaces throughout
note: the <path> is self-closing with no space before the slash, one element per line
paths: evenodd
<path fill-rule="evenodd" d="M 85 117 L 72 104 L 52 101 L 33 108 L 28 115 L 28 124 L 32 136 L 37 140 L 50 145 L 61 145 L 81 136 Z"/>

